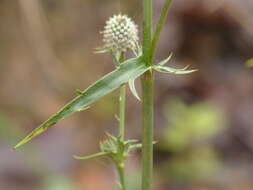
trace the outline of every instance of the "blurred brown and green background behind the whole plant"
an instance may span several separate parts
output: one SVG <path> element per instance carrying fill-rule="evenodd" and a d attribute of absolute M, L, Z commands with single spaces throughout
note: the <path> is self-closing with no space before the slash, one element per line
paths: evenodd
<path fill-rule="evenodd" d="M 154 1 L 157 21 L 164 0 Z M 112 190 L 108 160 L 74 160 L 117 134 L 118 91 L 14 152 L 11 147 L 114 69 L 99 33 L 126 13 L 142 24 L 134 0 L 0 1 L 0 189 Z M 141 35 L 141 32 L 140 32 Z M 175 0 L 156 62 L 191 65 L 191 75 L 156 75 L 156 190 L 253 189 L 252 0 Z M 137 81 L 137 89 L 140 92 Z M 140 139 L 140 103 L 128 92 L 127 137 Z M 140 189 L 140 152 L 127 161 L 129 190 Z"/>

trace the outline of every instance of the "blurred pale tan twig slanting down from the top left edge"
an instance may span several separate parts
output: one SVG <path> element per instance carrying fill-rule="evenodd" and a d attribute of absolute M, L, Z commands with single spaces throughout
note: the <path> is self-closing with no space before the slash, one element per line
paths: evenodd
<path fill-rule="evenodd" d="M 24 21 L 24 32 L 37 61 L 36 67 L 40 68 L 40 72 L 42 72 L 48 85 L 59 91 L 58 81 L 63 80 L 65 85 L 70 82 L 65 80 L 63 64 L 55 55 L 50 41 L 48 22 L 40 0 L 19 0 L 18 2 Z"/>

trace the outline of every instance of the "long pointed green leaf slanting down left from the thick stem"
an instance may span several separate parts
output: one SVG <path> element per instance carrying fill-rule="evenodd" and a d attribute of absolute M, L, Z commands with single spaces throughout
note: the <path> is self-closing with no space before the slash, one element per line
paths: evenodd
<path fill-rule="evenodd" d="M 136 78 L 150 69 L 143 61 L 142 57 L 129 59 L 124 62 L 119 68 L 115 69 L 111 73 L 105 75 L 94 84 L 89 86 L 82 94 L 78 95 L 70 103 L 65 105 L 55 115 L 39 125 L 28 136 L 21 140 L 14 149 L 31 141 L 34 137 L 45 132 L 48 128 L 56 124 L 58 121 L 70 116 L 71 114 L 83 110 L 91 103 L 99 100 L 103 96 L 114 91 L 122 84 L 128 82 L 130 79 Z"/>

